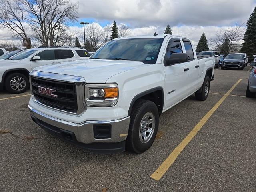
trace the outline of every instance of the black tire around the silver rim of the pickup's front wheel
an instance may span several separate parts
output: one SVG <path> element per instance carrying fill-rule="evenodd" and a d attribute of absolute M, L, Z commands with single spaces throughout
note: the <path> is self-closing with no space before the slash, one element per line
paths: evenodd
<path fill-rule="evenodd" d="M 141 129 L 141 122 L 142 118 L 147 114 L 152 113 L 154 114 L 154 131 L 152 131 L 151 136 L 149 136 L 146 143 L 143 143 L 140 140 L 140 129 Z M 138 100 L 133 108 L 132 113 L 130 116 L 130 125 L 129 125 L 129 132 L 126 138 L 126 150 L 133 153 L 143 153 L 144 151 L 148 150 L 150 146 L 153 144 L 156 134 L 158 131 L 159 125 L 159 113 L 156 104 L 149 100 Z"/>

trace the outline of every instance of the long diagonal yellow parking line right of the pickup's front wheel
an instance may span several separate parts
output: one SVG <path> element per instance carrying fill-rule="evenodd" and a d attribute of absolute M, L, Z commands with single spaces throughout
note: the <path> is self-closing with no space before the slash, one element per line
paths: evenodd
<path fill-rule="evenodd" d="M 206 121 L 212 116 L 215 110 L 222 104 L 222 102 L 226 99 L 228 94 L 234 90 L 234 88 L 238 85 L 238 83 L 242 79 L 239 79 L 233 86 L 226 92 L 224 96 L 213 106 L 213 108 L 206 113 L 206 115 L 196 124 L 196 126 L 192 129 L 192 131 L 182 140 L 182 142 L 171 152 L 171 154 L 166 158 L 166 160 L 158 167 L 158 169 L 150 176 L 154 180 L 160 180 L 160 178 L 165 174 L 165 172 L 170 168 L 170 166 L 174 163 L 176 158 L 182 152 L 182 150 L 187 146 L 187 144 L 194 138 L 194 136 L 198 133 L 198 131 L 204 126 Z"/>

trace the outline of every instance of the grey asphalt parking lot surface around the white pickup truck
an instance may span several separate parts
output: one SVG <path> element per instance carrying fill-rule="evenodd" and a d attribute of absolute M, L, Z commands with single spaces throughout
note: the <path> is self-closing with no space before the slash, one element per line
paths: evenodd
<path fill-rule="evenodd" d="M 30 91 L 1 92 L 0 191 L 256 191 L 256 98 L 245 97 L 248 70 L 215 69 L 208 99 L 192 95 L 164 112 L 154 144 L 139 155 L 92 154 L 62 142 L 31 120 Z M 153 179 L 239 79 L 170 168 Z"/>

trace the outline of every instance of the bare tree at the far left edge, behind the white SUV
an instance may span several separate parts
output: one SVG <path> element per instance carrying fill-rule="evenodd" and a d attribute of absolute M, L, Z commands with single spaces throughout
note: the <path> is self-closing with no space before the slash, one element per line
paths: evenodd
<path fill-rule="evenodd" d="M 0 0 L 0 27 L 8 28 L 14 37 L 27 40 L 29 26 L 23 6 L 19 0 Z"/>

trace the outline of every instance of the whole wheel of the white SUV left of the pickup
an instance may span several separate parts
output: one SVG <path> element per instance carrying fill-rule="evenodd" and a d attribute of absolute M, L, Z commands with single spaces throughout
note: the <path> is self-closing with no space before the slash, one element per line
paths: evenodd
<path fill-rule="evenodd" d="M 10 93 L 23 93 L 28 89 L 28 78 L 21 73 L 13 73 L 6 77 L 4 80 L 4 86 Z"/>

